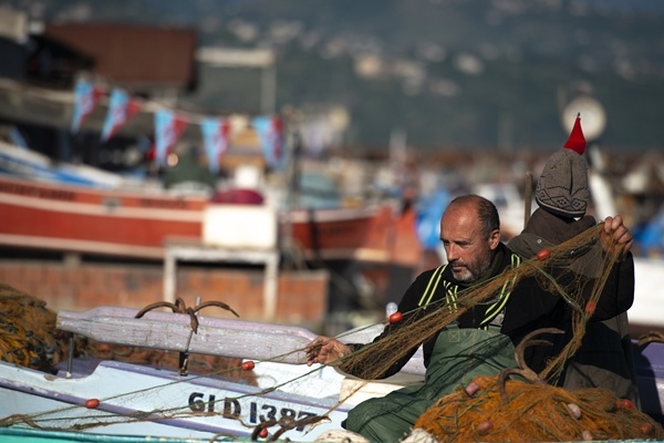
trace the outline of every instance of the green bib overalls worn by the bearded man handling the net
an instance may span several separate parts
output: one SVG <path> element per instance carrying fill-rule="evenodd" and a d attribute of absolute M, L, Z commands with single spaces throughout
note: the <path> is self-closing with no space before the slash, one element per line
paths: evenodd
<path fill-rule="evenodd" d="M 447 288 L 449 291 L 449 288 Z M 506 291 L 500 299 L 509 297 Z M 448 326 L 440 331 L 424 384 L 408 385 L 353 408 L 342 423 L 371 442 L 397 442 L 438 399 L 468 384 L 477 375 L 496 375 L 515 368 L 515 348 L 497 326 L 484 329 Z"/>

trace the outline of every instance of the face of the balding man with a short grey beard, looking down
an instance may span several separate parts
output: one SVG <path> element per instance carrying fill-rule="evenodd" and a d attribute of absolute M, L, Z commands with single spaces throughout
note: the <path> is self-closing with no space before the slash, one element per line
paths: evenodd
<path fill-rule="evenodd" d="M 440 219 L 440 240 L 454 278 L 471 284 L 491 266 L 500 231 L 496 229 L 487 238 L 477 209 L 473 205 L 455 205 L 448 207 Z"/>

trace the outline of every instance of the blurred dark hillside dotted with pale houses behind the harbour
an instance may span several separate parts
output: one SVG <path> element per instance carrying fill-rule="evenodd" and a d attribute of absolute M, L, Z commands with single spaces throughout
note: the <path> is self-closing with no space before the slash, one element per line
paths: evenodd
<path fill-rule="evenodd" d="M 42 16 L 188 27 L 201 47 L 272 48 L 277 109 L 343 107 L 344 142 L 357 148 L 385 146 L 400 128 L 423 150 L 549 150 L 566 137 L 561 103 L 581 91 L 605 107 L 600 142 L 610 150 L 662 150 L 664 140 L 660 2 L 60 0 Z M 184 103 L 256 113 L 260 81 L 256 70 L 201 66 Z"/>

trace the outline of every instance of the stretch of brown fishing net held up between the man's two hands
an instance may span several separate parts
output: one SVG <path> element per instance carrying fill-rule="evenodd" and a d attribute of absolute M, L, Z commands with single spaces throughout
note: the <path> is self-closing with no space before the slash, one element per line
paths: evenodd
<path fill-rule="evenodd" d="M 581 251 L 584 253 L 583 258 L 579 259 Z M 580 347 L 585 323 L 595 310 L 611 269 L 624 253 L 604 233 L 603 224 L 540 253 L 539 257 L 525 260 L 513 269 L 459 292 L 455 309 L 409 312 L 415 315 L 404 316 L 403 324 L 394 333 L 344 357 L 341 368 L 366 380 L 376 379 L 414 346 L 430 339 L 473 306 L 496 298 L 507 286 L 535 279 L 544 290 L 562 297 L 572 312 L 571 340 L 540 373 L 544 380 L 556 380 L 566 361 Z"/>

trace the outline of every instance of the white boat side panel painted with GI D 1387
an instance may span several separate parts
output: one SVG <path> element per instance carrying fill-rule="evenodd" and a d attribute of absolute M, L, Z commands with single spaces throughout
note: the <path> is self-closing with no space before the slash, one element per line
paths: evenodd
<path fill-rule="evenodd" d="M 77 361 L 76 364 L 92 364 Z M 49 377 L 30 369 L 0 364 L 3 424 L 55 431 L 117 435 L 249 437 L 268 420 L 286 422 L 325 416 L 315 426 L 283 433 L 295 441 L 340 429 L 347 409 L 333 410 L 338 399 L 319 399 L 209 377 L 178 375 L 117 361 L 103 361 L 90 374 L 61 371 Z M 91 400 L 98 405 L 90 408 Z M 89 406 L 86 406 L 86 404 Z M 270 426 L 277 432 L 279 425 Z"/>

